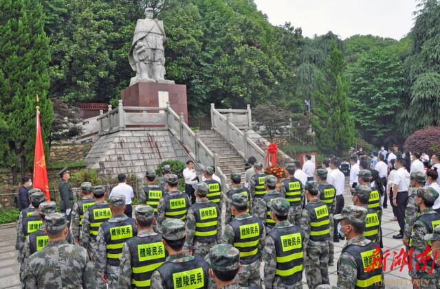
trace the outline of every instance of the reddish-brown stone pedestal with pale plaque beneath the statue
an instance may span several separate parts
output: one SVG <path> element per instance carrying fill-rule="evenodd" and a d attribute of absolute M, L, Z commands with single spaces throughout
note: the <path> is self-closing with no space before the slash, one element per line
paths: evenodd
<path fill-rule="evenodd" d="M 188 107 L 185 84 L 137 82 L 121 91 L 124 106 L 166 107 L 170 103 L 173 111 L 184 114 L 188 124 Z"/>

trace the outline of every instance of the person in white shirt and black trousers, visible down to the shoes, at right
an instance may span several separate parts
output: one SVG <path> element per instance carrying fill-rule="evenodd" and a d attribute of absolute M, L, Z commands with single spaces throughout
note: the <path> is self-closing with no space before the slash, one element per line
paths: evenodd
<path fill-rule="evenodd" d="M 393 204 L 396 207 L 397 222 L 399 222 L 399 234 L 393 235 L 395 239 L 404 238 L 405 210 L 408 203 L 408 187 L 410 186 L 410 174 L 405 169 L 405 160 L 396 159 L 397 172 L 393 179 Z M 397 194 L 395 194 L 397 192 Z"/>

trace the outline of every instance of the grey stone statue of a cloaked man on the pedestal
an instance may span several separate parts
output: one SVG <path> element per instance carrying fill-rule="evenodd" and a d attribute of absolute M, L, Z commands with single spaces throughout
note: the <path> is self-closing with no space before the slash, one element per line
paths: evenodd
<path fill-rule="evenodd" d="M 131 43 L 129 62 L 136 76 L 130 85 L 140 81 L 174 83 L 165 80 L 164 23 L 153 19 L 153 8 L 145 8 L 145 17 L 137 20 Z"/>

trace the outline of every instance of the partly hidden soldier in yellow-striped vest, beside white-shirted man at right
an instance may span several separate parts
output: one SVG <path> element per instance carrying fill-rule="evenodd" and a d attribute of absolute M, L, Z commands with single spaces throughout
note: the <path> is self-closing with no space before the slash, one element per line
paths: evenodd
<path fill-rule="evenodd" d="M 316 181 L 319 186 L 319 198 L 324 202 L 329 208 L 329 218 L 330 218 L 330 237 L 329 238 L 329 266 L 333 266 L 335 257 L 335 245 L 333 244 L 333 233 L 335 230 L 335 225 L 333 222 L 333 215 L 336 211 L 336 188 L 333 185 L 327 183 L 328 170 L 318 169 L 316 170 Z"/>

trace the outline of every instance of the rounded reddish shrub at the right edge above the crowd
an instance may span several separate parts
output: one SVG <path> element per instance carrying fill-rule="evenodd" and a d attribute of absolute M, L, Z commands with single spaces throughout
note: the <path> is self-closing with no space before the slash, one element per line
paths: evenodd
<path fill-rule="evenodd" d="M 426 152 L 428 155 L 440 153 L 440 126 L 430 126 L 415 131 L 404 145 L 406 152 Z"/>

